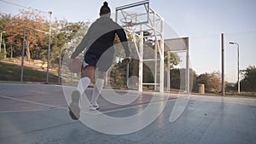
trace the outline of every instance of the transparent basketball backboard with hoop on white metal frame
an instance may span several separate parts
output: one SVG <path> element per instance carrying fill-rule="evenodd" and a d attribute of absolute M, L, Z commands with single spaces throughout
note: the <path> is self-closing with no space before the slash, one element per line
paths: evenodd
<path fill-rule="evenodd" d="M 120 26 L 145 24 L 148 23 L 149 0 L 120 6 L 115 11 L 115 21 Z"/>

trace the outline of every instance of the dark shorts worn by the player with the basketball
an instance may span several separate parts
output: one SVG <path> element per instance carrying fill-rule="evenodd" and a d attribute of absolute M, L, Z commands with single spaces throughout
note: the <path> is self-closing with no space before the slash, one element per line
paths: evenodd
<path fill-rule="evenodd" d="M 86 53 L 83 66 L 96 66 L 100 72 L 107 72 L 113 63 L 113 52 L 107 51 L 103 55 Z"/>

